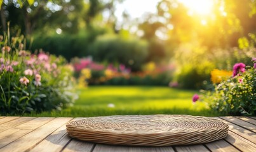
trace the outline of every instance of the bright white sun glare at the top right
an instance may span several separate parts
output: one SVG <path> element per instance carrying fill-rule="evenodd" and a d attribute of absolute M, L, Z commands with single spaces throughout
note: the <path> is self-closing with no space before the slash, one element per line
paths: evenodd
<path fill-rule="evenodd" d="M 179 0 L 183 3 L 192 13 L 199 15 L 209 15 L 213 11 L 213 0 Z"/>

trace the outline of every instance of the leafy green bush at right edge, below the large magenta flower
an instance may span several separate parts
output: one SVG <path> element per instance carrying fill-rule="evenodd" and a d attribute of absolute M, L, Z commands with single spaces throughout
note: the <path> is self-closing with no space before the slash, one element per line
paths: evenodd
<path fill-rule="evenodd" d="M 210 109 L 224 115 L 256 115 L 256 69 L 247 66 L 239 73 L 205 92 L 203 101 Z"/>

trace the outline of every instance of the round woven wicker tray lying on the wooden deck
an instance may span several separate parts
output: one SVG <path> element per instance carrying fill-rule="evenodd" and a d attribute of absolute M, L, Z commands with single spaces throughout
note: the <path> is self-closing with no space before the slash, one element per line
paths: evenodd
<path fill-rule="evenodd" d="M 220 120 L 189 115 L 91 117 L 67 124 L 69 136 L 83 141 L 140 146 L 208 143 L 227 136 Z"/>

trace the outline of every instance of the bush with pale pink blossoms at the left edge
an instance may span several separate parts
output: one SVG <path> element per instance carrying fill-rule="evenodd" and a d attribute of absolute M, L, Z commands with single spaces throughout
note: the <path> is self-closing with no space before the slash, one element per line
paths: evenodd
<path fill-rule="evenodd" d="M 25 51 L 24 37 L 0 42 L 0 115 L 61 110 L 72 105 L 72 68 L 62 57 Z"/>

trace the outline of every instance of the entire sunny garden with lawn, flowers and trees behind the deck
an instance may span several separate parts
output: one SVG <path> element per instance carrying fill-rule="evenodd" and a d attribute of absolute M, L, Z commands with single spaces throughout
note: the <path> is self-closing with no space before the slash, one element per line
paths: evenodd
<path fill-rule="evenodd" d="M 0 115 L 256 115 L 256 1 L 0 4 Z"/>

